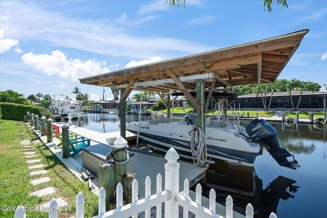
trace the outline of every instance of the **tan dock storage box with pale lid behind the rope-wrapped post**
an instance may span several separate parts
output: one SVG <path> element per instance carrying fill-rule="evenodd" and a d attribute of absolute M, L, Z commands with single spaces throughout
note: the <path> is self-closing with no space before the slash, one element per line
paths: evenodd
<path fill-rule="evenodd" d="M 104 144 L 96 144 L 95 146 L 87 146 L 82 150 L 82 163 L 91 174 L 98 177 L 99 164 L 106 161 L 106 155 L 111 152 L 112 147 Z M 127 173 L 135 172 L 134 153 L 129 152 L 129 160 L 127 162 Z"/>

